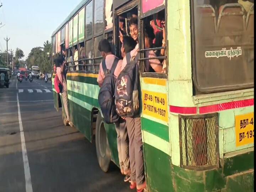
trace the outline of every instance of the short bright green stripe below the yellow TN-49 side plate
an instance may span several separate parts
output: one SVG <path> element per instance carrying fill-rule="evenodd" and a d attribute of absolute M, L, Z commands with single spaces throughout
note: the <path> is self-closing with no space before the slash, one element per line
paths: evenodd
<path fill-rule="evenodd" d="M 169 127 L 142 117 L 142 128 L 169 142 Z"/>

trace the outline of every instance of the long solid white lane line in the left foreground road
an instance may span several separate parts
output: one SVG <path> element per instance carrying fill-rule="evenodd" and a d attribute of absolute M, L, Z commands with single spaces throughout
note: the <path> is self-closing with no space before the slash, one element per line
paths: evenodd
<path fill-rule="evenodd" d="M 23 132 L 23 126 L 22 126 L 22 121 L 21 121 L 20 102 L 18 100 L 18 93 L 17 93 L 17 106 L 18 106 L 18 120 L 19 120 L 19 124 L 20 124 L 21 149 L 22 149 L 22 157 L 23 157 L 25 182 L 26 182 L 26 192 L 33 192 L 31 175 L 30 175 L 30 167 L 28 164 L 28 157 L 27 157 L 25 135 Z"/>

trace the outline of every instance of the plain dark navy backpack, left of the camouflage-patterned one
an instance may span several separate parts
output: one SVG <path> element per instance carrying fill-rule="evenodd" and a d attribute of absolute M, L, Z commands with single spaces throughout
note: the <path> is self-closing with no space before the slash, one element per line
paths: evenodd
<path fill-rule="evenodd" d="M 100 104 L 103 120 L 107 124 L 116 123 L 119 119 L 114 103 L 114 88 L 116 78 L 113 75 L 118 61 L 119 59 L 115 58 L 111 69 L 108 70 L 105 59 L 102 60 L 102 69 L 104 71 L 105 78 L 98 94 L 98 102 Z"/>

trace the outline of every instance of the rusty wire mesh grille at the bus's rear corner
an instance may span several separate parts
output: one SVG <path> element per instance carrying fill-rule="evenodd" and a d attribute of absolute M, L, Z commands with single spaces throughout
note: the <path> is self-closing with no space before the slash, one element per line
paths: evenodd
<path fill-rule="evenodd" d="M 219 166 L 218 113 L 179 116 L 181 167 L 204 170 Z"/>

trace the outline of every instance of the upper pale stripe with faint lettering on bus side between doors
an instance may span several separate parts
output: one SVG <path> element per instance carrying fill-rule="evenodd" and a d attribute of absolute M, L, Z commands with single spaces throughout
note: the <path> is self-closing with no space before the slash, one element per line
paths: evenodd
<path fill-rule="evenodd" d="M 76 87 L 80 87 L 80 89 L 72 89 L 70 85 L 75 85 Z M 93 85 L 93 84 L 88 84 L 88 83 L 83 83 L 83 82 L 78 82 L 78 81 L 67 81 L 67 87 L 68 90 L 74 91 L 76 93 L 79 93 L 81 95 L 85 95 L 87 97 L 91 97 L 94 99 L 98 100 L 98 92 L 100 91 L 100 87 L 98 85 Z"/>

